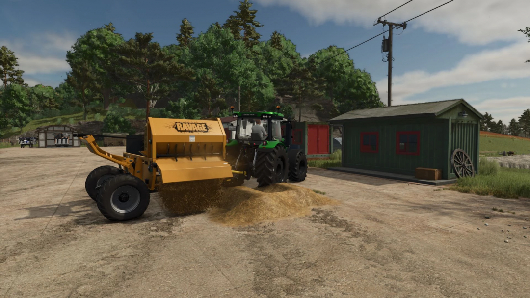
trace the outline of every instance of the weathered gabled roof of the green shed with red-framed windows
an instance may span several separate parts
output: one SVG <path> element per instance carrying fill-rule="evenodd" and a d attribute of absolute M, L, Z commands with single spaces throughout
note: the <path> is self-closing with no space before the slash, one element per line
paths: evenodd
<path fill-rule="evenodd" d="M 383 107 L 353 110 L 335 117 L 330 122 L 340 122 L 343 120 L 363 119 L 363 118 L 383 118 L 383 117 L 436 117 L 441 113 L 457 106 L 457 104 L 464 104 L 467 109 L 475 113 L 481 119 L 484 118 L 482 114 L 475 110 L 469 103 L 463 99 L 453 99 L 444 101 L 432 101 L 423 103 L 402 104 L 401 106 Z"/>

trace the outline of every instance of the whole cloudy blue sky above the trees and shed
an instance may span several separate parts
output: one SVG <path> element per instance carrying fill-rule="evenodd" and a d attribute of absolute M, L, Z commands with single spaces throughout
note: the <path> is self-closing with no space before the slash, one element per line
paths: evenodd
<path fill-rule="evenodd" d="M 387 15 L 400 22 L 447 0 L 414 0 Z M 123 37 L 153 32 L 175 43 L 186 17 L 196 33 L 224 23 L 238 1 L 3 0 L 0 45 L 20 58 L 30 84 L 57 86 L 69 70 L 66 51 L 86 31 L 112 22 Z M 349 48 L 383 31 L 373 22 L 405 0 L 254 0 L 262 39 L 277 30 L 303 56 L 329 45 Z M 394 36 L 393 104 L 464 98 L 482 113 L 508 122 L 530 108 L 530 43 L 517 32 L 530 27 L 530 1 L 456 0 L 408 24 Z M 148 3 L 148 4 L 147 4 Z M 398 30 L 399 33 L 400 30 Z M 386 103 L 387 64 L 382 37 L 349 52 L 372 74 Z"/>

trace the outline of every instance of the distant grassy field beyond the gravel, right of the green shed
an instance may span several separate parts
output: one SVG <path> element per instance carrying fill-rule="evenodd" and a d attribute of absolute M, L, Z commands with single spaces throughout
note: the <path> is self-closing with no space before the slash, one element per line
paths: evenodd
<path fill-rule="evenodd" d="M 487 156 L 499 156 L 498 152 L 513 151 L 530 154 L 530 138 L 480 132 L 480 152 Z"/>

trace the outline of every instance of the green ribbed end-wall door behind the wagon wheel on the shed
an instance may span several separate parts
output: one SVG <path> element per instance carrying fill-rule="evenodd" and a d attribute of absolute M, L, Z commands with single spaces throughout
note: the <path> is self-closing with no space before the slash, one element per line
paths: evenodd
<path fill-rule="evenodd" d="M 451 152 L 449 154 L 452 155 L 456 149 L 464 150 L 471 157 L 475 171 L 478 162 L 478 156 L 476 156 L 478 151 L 476 146 L 479 138 L 478 129 L 478 125 L 473 123 L 453 122 L 451 125 Z M 451 156 L 449 156 L 449 159 L 451 159 Z M 451 167 L 451 173 L 454 173 L 453 167 Z"/>

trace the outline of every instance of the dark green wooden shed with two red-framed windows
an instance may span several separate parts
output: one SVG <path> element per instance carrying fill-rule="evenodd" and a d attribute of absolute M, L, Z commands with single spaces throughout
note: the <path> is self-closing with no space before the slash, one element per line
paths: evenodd
<path fill-rule="evenodd" d="M 342 126 L 342 168 L 414 176 L 417 168 L 456 177 L 451 156 L 465 151 L 478 172 L 480 119 L 463 99 L 353 110 L 331 119 Z"/>

